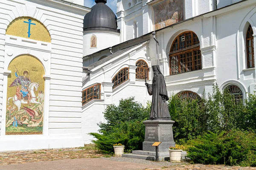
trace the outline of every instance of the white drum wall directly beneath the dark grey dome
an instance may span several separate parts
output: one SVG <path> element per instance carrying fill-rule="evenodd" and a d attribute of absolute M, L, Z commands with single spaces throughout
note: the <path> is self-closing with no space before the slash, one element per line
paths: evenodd
<path fill-rule="evenodd" d="M 93 35 L 95 35 L 97 38 L 96 48 L 90 47 L 90 40 Z M 102 49 L 119 44 L 119 35 L 120 33 L 115 33 L 113 31 L 84 31 L 83 56 L 93 54 Z"/>

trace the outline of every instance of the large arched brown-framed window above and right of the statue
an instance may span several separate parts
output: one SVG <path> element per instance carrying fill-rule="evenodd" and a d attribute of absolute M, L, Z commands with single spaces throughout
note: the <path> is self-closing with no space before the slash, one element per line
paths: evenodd
<path fill-rule="evenodd" d="M 170 75 L 202 69 L 200 42 L 192 31 L 178 35 L 169 53 Z"/>

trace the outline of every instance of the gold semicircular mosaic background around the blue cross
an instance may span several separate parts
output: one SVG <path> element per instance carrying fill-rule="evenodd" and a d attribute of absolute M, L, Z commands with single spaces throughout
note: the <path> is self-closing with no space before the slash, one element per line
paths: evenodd
<path fill-rule="evenodd" d="M 29 19 L 31 20 L 31 23 L 36 24 L 30 25 L 30 37 L 28 37 L 29 24 L 24 23 L 24 21 L 28 22 Z M 13 20 L 7 27 L 6 34 L 32 40 L 51 42 L 51 37 L 45 26 L 38 20 L 30 17 L 19 17 Z"/>

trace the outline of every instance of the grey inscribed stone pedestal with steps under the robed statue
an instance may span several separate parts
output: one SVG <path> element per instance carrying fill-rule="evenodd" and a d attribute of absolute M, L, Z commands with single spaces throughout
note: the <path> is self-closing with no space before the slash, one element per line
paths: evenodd
<path fill-rule="evenodd" d="M 172 120 L 146 120 L 145 140 L 143 150 L 133 150 L 132 154 L 122 154 L 123 157 L 155 160 L 156 148 L 151 146 L 154 142 L 162 142 L 158 146 L 159 160 L 169 159 L 169 147 L 175 147 L 173 140 Z"/>

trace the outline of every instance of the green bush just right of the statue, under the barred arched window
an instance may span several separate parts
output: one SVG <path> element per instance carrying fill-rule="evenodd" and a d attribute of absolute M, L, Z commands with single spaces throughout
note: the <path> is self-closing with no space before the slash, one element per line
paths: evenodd
<path fill-rule="evenodd" d="M 207 117 L 203 103 L 198 100 L 181 100 L 172 96 L 168 104 L 173 125 L 175 142 L 184 144 L 187 140 L 203 134 L 207 130 Z"/>

